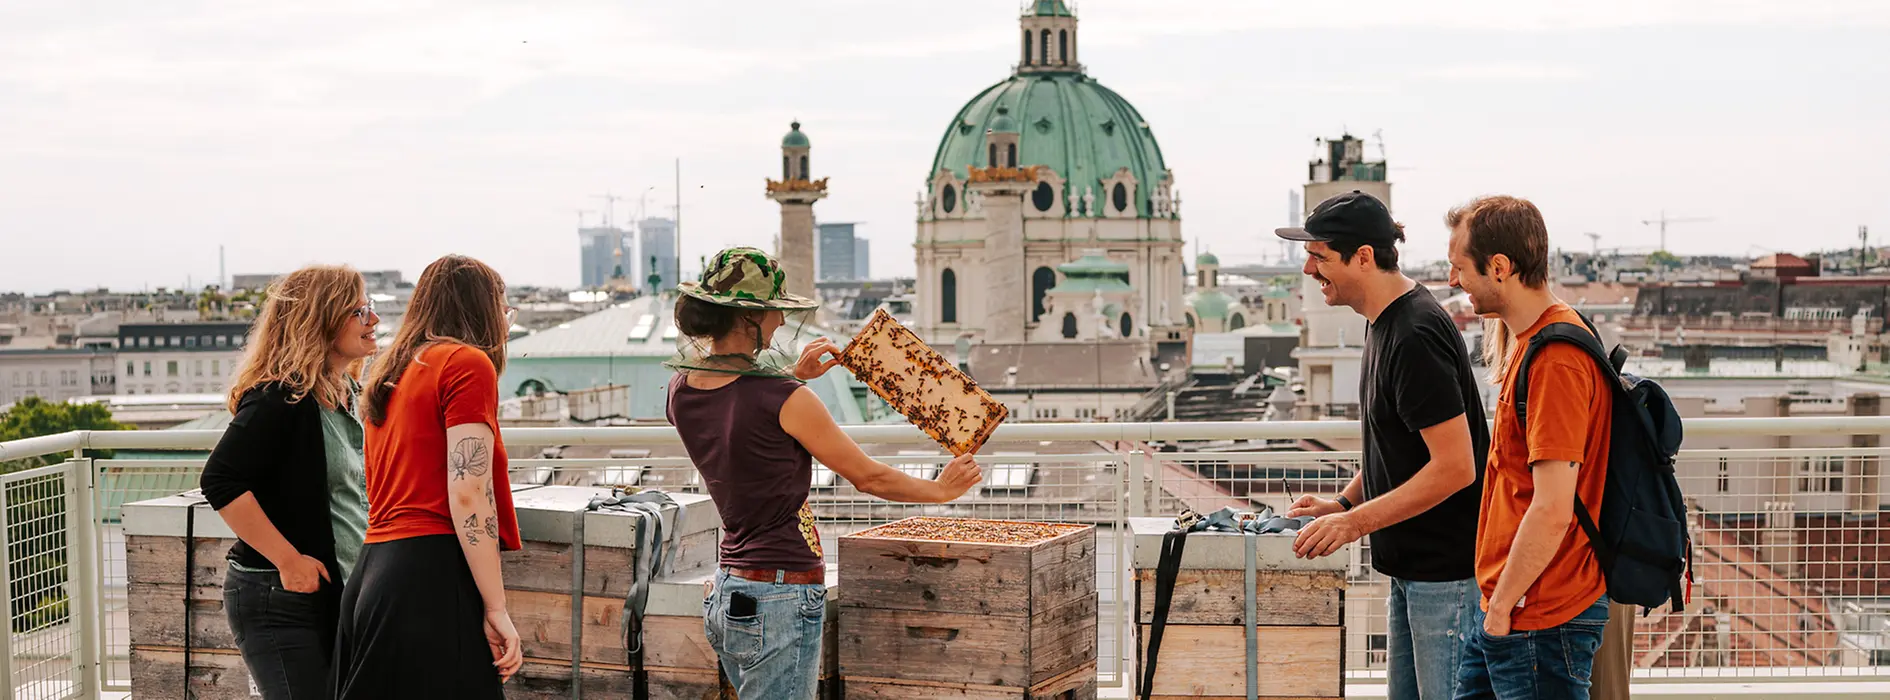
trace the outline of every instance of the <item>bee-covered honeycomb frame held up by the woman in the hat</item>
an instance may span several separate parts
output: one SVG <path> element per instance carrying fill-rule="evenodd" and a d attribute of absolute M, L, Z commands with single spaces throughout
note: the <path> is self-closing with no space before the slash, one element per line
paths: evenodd
<path fill-rule="evenodd" d="M 839 363 L 951 454 L 977 452 L 1011 414 L 885 308 L 841 350 Z"/>

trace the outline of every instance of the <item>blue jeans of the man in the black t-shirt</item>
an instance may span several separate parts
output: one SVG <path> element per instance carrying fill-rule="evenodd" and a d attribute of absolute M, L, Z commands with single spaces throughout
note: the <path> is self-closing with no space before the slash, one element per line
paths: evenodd
<path fill-rule="evenodd" d="M 1391 634 L 1385 696 L 1389 700 L 1450 700 L 1465 639 L 1476 632 L 1476 579 L 1391 579 L 1385 600 Z M 1421 639 L 1421 643 L 1419 643 Z"/>

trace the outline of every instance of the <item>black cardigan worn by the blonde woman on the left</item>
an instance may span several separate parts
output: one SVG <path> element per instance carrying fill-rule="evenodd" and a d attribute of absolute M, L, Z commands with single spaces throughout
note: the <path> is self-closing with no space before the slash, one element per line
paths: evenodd
<path fill-rule="evenodd" d="M 198 486 L 210 507 L 221 511 L 242 494 L 255 494 L 263 515 L 295 545 L 314 556 L 335 581 L 321 592 L 335 600 L 342 588 L 342 568 L 335 560 L 335 526 L 329 509 L 329 456 L 321 443 L 321 403 L 308 395 L 289 401 L 289 390 L 265 384 L 236 403 L 236 416 L 204 464 Z M 263 552 L 242 539 L 231 547 L 231 562 L 272 569 Z"/>

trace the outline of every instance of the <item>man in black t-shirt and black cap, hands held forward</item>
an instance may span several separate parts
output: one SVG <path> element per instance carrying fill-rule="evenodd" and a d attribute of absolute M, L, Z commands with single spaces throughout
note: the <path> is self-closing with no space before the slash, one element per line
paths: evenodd
<path fill-rule="evenodd" d="M 1289 515 L 1315 515 L 1298 556 L 1327 556 L 1370 535 L 1385 600 L 1391 700 L 1455 694 L 1465 636 L 1476 632 L 1476 513 L 1489 426 L 1470 354 L 1450 314 L 1399 272 L 1404 229 L 1378 199 L 1351 191 L 1314 208 L 1304 272 L 1325 303 L 1366 320 L 1359 378 L 1363 467 L 1334 499 L 1306 496 Z M 1419 645 L 1418 639 L 1423 639 Z"/>

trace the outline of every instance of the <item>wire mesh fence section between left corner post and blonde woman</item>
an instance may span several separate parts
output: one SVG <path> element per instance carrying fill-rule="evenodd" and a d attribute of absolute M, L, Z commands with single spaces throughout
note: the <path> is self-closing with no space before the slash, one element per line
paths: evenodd
<path fill-rule="evenodd" d="M 204 473 L 200 456 L 178 460 L 93 460 L 94 513 L 98 515 L 98 626 L 104 687 L 130 689 L 130 598 L 125 571 L 125 503 L 176 496 L 197 488 Z"/>

